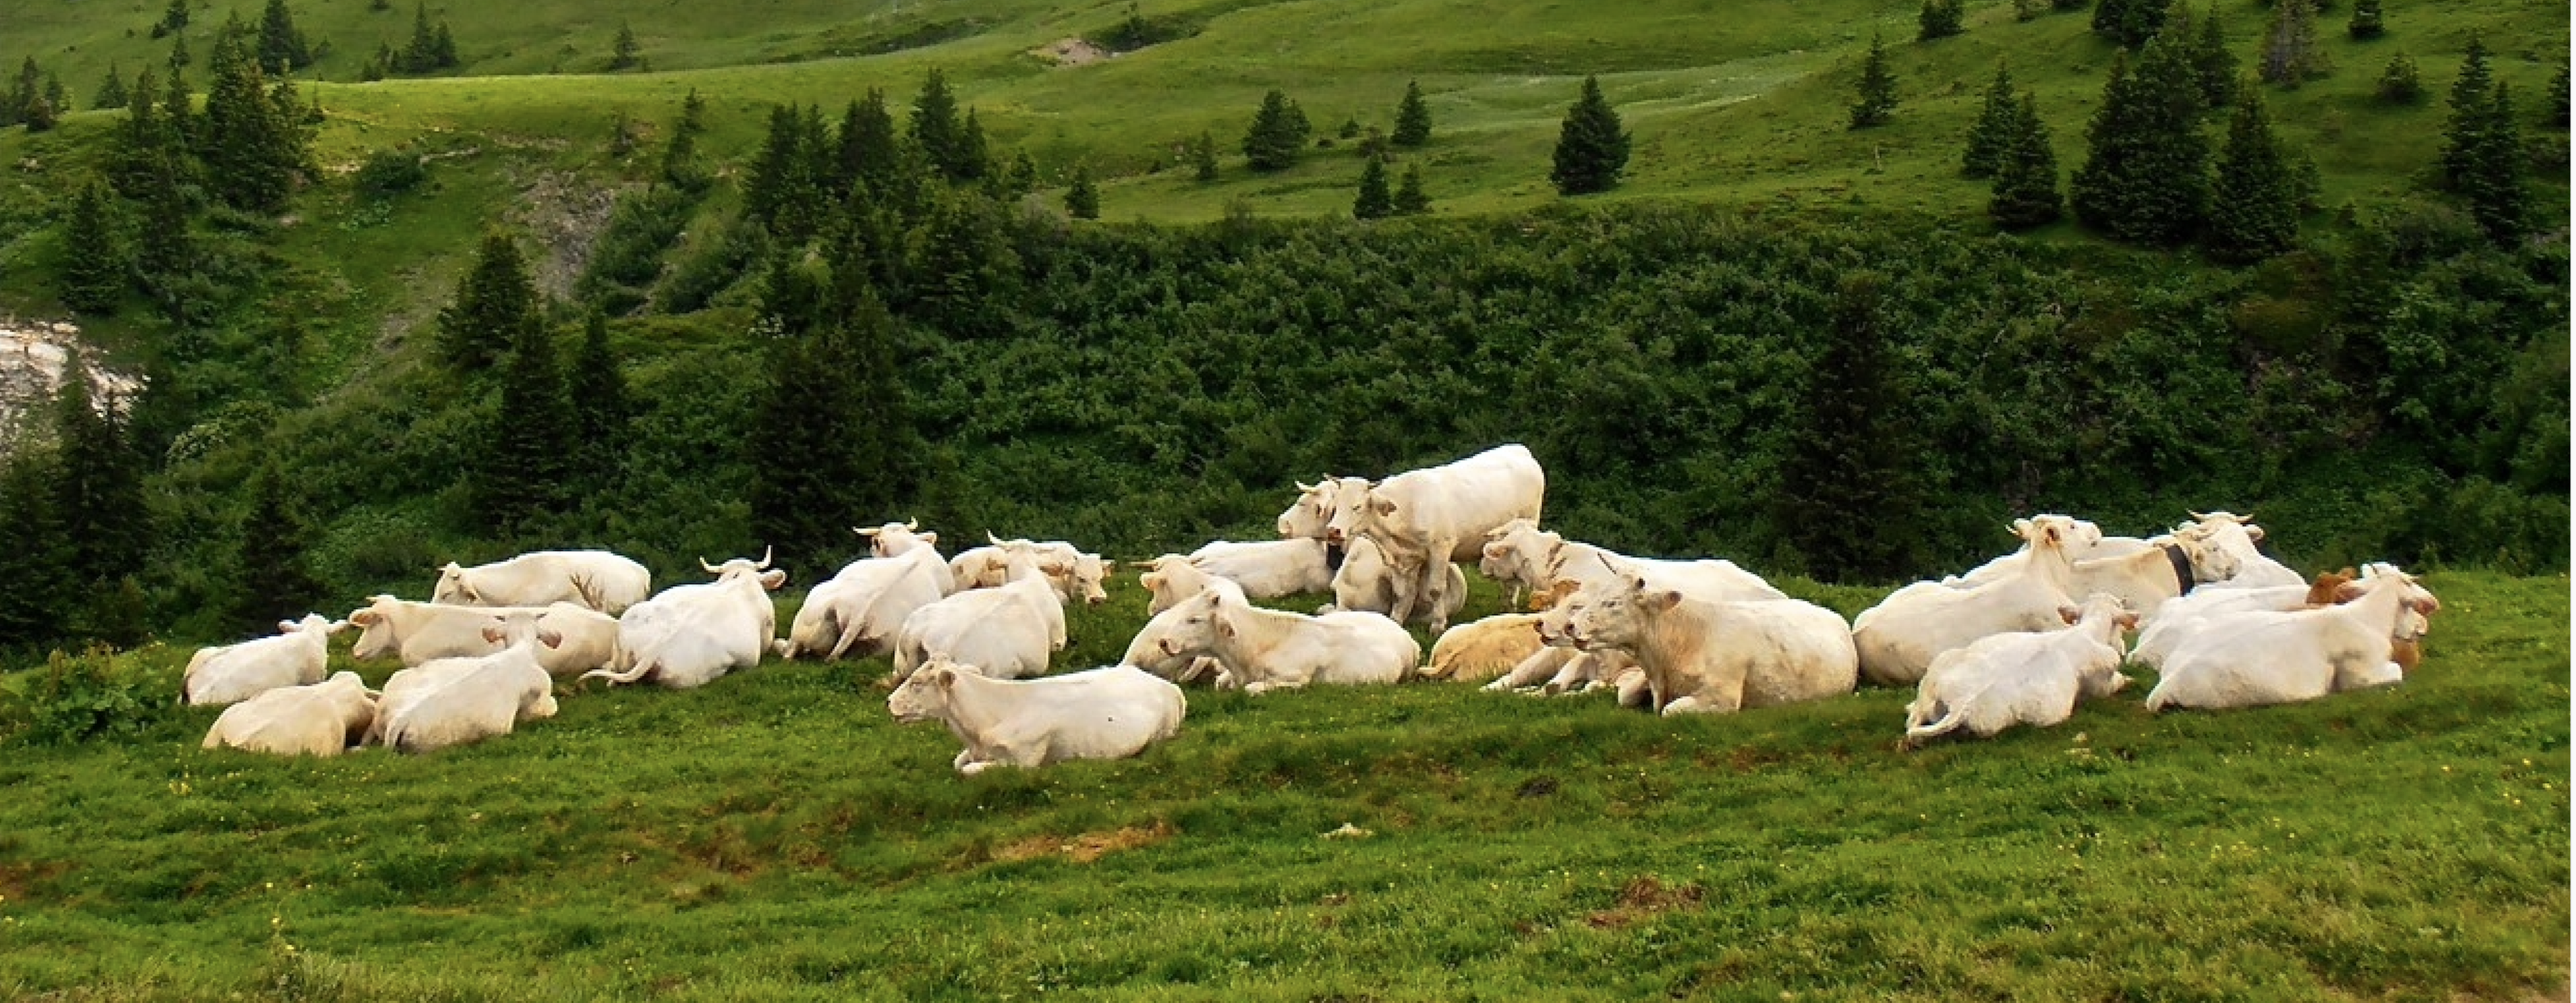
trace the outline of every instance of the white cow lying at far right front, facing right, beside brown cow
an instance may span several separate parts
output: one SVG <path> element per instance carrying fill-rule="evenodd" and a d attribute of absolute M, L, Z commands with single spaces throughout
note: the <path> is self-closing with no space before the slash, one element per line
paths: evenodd
<path fill-rule="evenodd" d="M 2164 658 L 2146 710 L 2259 707 L 2406 679 L 2396 643 L 2442 604 L 2391 566 L 2375 566 L 2352 602 L 2293 612 L 2208 617 Z"/>

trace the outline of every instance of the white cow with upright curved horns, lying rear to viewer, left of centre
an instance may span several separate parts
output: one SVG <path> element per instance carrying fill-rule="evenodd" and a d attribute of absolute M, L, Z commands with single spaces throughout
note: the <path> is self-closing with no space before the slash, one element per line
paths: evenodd
<path fill-rule="evenodd" d="M 786 571 L 770 571 L 768 550 L 760 561 L 732 558 L 724 566 L 698 566 L 716 576 L 708 584 L 662 589 L 662 594 L 634 604 L 618 617 L 618 661 L 582 674 L 582 679 L 608 679 L 629 684 L 652 679 L 672 689 L 690 689 L 716 682 L 734 669 L 760 666 L 760 656 L 778 633 L 778 607 L 770 592 L 788 581 Z"/>

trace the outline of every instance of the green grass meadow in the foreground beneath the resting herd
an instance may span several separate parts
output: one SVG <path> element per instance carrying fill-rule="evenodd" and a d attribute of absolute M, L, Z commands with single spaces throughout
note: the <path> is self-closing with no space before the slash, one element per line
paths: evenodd
<path fill-rule="evenodd" d="M 1891 689 L 1656 720 L 1406 684 L 1193 692 L 1141 759 L 961 779 L 878 661 L 582 692 L 420 759 L 206 754 L 191 710 L 0 759 L 0 995 L 2555 995 L 2568 581 L 2427 581 L 2403 687 L 2151 718 L 2141 679 L 1911 756 Z M 1061 664 L 1141 604 L 1077 610 Z"/>

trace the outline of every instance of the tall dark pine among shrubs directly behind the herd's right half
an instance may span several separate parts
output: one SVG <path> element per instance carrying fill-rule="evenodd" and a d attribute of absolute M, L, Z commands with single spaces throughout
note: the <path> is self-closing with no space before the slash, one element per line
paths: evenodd
<path fill-rule="evenodd" d="M 1893 579 L 1906 568 L 1906 540 L 1919 520 L 1911 409 L 1891 357 L 1883 288 L 1878 273 L 1842 280 L 1780 468 L 1775 525 L 1824 581 Z M 1816 512 L 1834 512 L 1834 520 L 1816 520 Z M 1852 525 L 1870 532 L 1852 532 Z"/>

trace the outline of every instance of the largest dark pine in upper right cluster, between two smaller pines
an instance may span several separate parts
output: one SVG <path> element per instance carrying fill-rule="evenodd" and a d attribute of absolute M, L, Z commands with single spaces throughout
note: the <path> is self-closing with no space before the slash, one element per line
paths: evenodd
<path fill-rule="evenodd" d="M 2200 111 L 2200 77 L 2179 44 L 2151 39 L 2136 75 L 2128 54 L 2115 54 L 2087 131 L 2089 154 L 2074 177 L 2076 219 L 2138 244 L 2192 239 L 2208 213 L 2210 152 Z"/>

